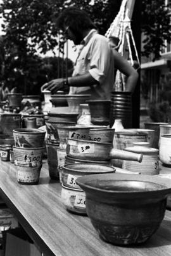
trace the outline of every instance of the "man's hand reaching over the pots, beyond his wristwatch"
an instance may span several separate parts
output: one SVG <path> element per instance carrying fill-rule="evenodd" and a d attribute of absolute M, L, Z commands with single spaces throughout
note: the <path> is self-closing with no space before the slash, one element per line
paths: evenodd
<path fill-rule="evenodd" d="M 41 87 L 41 92 L 42 90 L 50 90 L 52 94 L 55 94 L 58 90 L 63 90 L 63 78 L 54 79 L 48 83 L 44 83 Z"/>

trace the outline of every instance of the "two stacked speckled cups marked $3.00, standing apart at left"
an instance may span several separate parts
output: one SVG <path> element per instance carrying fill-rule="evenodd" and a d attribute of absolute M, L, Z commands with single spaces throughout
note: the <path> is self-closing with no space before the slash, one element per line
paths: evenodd
<path fill-rule="evenodd" d="M 45 131 L 40 129 L 15 129 L 13 136 L 15 146 L 16 178 L 18 183 L 34 185 L 39 183 L 44 154 Z"/>

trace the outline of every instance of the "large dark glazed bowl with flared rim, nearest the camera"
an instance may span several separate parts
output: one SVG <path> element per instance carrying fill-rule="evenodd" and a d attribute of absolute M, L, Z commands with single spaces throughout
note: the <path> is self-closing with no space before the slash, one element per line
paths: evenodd
<path fill-rule="evenodd" d="M 171 192 L 170 180 L 148 175 L 93 174 L 76 183 L 100 238 L 116 245 L 148 240 L 160 227 Z"/>

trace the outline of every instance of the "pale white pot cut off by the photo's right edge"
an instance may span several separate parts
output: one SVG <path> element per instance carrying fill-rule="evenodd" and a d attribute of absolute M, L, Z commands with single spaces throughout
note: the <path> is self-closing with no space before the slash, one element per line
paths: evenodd
<path fill-rule="evenodd" d="M 163 166 L 171 167 L 171 134 L 160 137 L 159 158 Z"/>

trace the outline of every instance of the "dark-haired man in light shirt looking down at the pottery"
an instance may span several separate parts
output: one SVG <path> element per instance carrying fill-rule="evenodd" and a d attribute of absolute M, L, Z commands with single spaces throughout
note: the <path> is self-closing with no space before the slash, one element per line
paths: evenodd
<path fill-rule="evenodd" d="M 91 94 L 93 99 L 110 99 L 114 83 L 114 61 L 108 39 L 98 34 L 95 25 L 83 10 L 68 8 L 57 20 L 58 28 L 75 45 L 82 45 L 75 62 L 73 76 L 54 79 L 42 90 L 70 88 L 70 94 Z"/>

